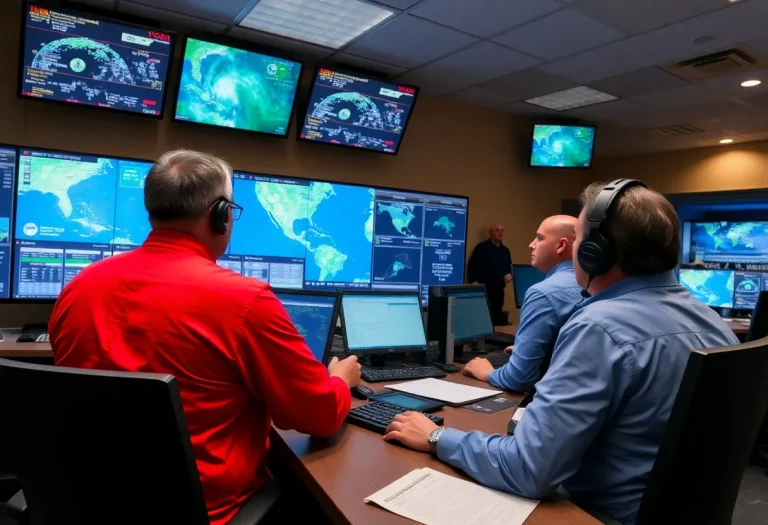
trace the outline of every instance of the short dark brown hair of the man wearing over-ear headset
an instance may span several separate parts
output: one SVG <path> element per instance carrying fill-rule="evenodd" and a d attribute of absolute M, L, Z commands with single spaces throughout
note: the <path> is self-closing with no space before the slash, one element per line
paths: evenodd
<path fill-rule="evenodd" d="M 605 186 L 595 182 L 581 192 L 587 218 Z M 660 193 L 641 186 L 629 188 L 613 202 L 603 228 L 624 274 L 650 275 L 677 266 L 680 221 L 675 208 Z"/>

